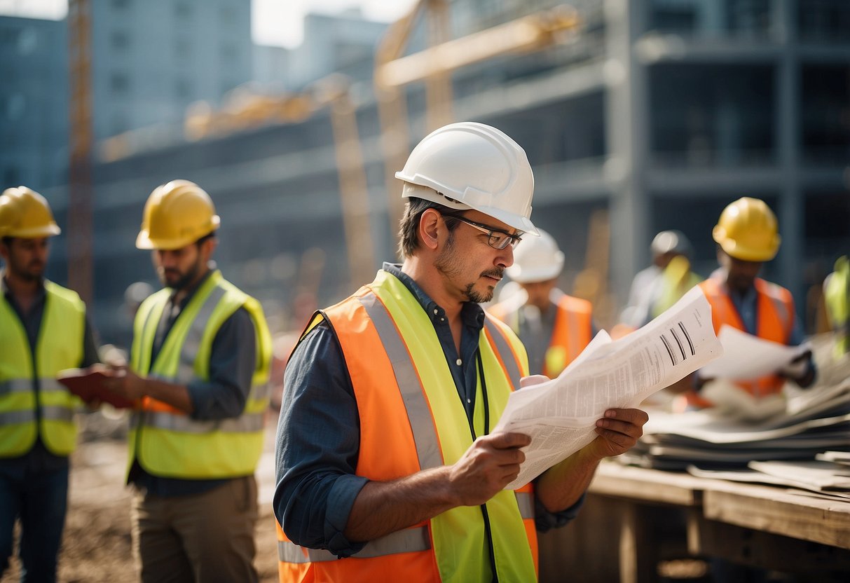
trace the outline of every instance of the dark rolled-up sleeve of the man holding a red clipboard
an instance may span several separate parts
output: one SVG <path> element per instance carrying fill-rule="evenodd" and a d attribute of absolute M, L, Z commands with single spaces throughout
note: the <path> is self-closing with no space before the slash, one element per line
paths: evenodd
<path fill-rule="evenodd" d="M 251 314 L 237 309 L 216 332 L 210 349 L 209 380 L 191 381 L 193 419 L 213 421 L 238 417 L 245 410 L 254 368 L 257 338 Z"/>

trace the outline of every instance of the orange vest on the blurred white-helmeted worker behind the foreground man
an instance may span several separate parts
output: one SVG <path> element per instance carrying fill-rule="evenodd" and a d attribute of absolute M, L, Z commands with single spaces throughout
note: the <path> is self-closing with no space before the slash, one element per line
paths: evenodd
<path fill-rule="evenodd" d="M 593 307 L 587 300 L 564 295 L 557 305 L 552 339 L 549 341 L 546 356 L 543 359 L 543 374 L 554 378 L 558 376 L 575 358 L 581 354 L 592 340 Z M 490 308 L 490 313 L 511 327 L 519 335 L 519 309 L 507 308 L 505 303 Z"/>

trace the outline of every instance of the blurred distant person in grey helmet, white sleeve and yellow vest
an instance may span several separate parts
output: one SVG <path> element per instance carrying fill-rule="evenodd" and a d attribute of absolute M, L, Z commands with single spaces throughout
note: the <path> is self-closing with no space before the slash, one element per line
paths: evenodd
<path fill-rule="evenodd" d="M 639 271 L 632 280 L 628 303 L 620 316 L 623 331 L 646 325 L 702 281 L 690 269 L 692 248 L 682 231 L 661 231 L 649 249 L 652 265 Z"/>

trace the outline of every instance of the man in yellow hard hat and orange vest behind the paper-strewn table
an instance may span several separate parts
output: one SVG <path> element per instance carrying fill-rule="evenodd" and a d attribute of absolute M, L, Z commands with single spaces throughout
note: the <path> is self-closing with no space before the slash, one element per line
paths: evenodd
<path fill-rule="evenodd" d="M 774 212 L 764 201 L 745 196 L 723 209 L 712 235 L 717 242 L 720 268 L 700 287 L 711 303 L 714 331 L 719 334 L 723 325 L 731 325 L 766 340 L 800 345 L 802 325 L 794 311 L 791 291 L 757 277 L 762 263 L 773 259 L 779 251 Z M 781 393 L 786 379 L 807 388 L 814 377 L 812 353 L 807 351 L 773 375 L 736 384 L 753 397 L 764 398 Z M 691 383 L 696 390 L 684 393 L 689 407 L 712 405 L 698 393 L 710 381 L 696 372 Z"/>

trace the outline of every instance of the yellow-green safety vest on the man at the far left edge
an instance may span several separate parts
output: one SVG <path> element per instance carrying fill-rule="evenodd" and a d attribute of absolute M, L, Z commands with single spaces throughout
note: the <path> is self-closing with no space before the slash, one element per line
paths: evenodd
<path fill-rule="evenodd" d="M 48 280 L 44 289 L 35 363 L 20 318 L 0 294 L 0 457 L 26 454 L 37 435 L 56 456 L 67 456 L 77 447 L 74 411 L 81 401 L 56 375 L 82 361 L 86 307 L 76 291 Z"/>

